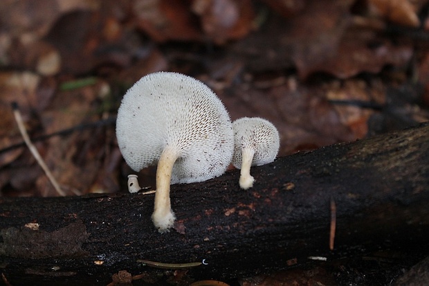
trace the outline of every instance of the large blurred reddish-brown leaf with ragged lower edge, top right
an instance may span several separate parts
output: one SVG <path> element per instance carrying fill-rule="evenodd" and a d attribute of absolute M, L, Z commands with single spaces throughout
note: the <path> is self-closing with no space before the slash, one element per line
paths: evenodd
<path fill-rule="evenodd" d="M 386 65 L 405 68 L 413 55 L 407 42 L 392 44 L 374 30 L 354 26 L 352 1 L 311 1 L 287 19 L 268 18 L 262 30 L 234 45 L 250 71 L 296 67 L 300 78 L 325 72 L 350 78 L 378 73 Z"/>

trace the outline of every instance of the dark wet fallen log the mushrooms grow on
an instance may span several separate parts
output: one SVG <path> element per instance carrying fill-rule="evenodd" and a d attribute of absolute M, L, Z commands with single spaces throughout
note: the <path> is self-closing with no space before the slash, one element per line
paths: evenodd
<path fill-rule="evenodd" d="M 331 260 L 386 248 L 428 254 L 428 123 L 300 152 L 251 172 L 255 185 L 246 191 L 237 170 L 172 186 L 178 220 L 164 234 L 150 220 L 154 195 L 1 197 L 3 282 L 107 285 L 122 271 L 125 280 L 140 278 L 134 285 L 185 284 L 296 267 L 311 256 Z M 158 269 L 137 260 L 204 264 Z"/>

